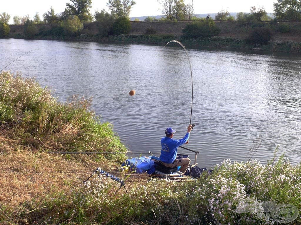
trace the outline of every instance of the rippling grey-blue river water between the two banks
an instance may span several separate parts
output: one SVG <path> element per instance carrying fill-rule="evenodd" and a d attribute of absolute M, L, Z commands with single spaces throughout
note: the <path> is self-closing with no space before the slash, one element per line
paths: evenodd
<path fill-rule="evenodd" d="M 92 109 L 132 152 L 160 154 L 167 127 L 182 138 L 191 115 L 191 73 L 181 46 L 0 39 L 0 69 L 36 77 L 59 101 L 93 96 Z M 193 73 L 190 143 L 200 167 L 243 161 L 253 141 L 262 163 L 301 159 L 301 57 L 188 49 Z M 136 94 L 129 96 L 134 89 Z M 180 150 L 183 154 L 194 154 Z"/>

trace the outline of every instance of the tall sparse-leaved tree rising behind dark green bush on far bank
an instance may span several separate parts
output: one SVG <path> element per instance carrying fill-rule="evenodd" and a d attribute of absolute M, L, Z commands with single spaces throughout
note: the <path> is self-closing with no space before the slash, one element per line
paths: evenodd
<path fill-rule="evenodd" d="M 136 2 L 134 0 L 109 0 L 107 6 L 111 10 L 111 14 L 116 17 L 128 17 L 132 6 Z"/>

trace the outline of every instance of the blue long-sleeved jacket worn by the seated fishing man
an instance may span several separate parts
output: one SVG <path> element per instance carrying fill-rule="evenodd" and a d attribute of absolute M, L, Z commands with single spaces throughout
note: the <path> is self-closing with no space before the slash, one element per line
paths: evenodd
<path fill-rule="evenodd" d="M 163 137 L 161 139 L 161 155 L 160 161 L 164 163 L 173 163 L 177 157 L 178 147 L 186 143 L 189 138 L 187 133 L 182 139 L 172 139 L 170 137 Z"/>

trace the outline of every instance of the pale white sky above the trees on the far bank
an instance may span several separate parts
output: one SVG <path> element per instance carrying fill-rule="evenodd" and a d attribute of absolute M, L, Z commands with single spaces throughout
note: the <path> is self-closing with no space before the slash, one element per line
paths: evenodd
<path fill-rule="evenodd" d="M 136 4 L 132 7 L 130 17 L 138 16 L 157 16 L 162 15 L 162 6 L 157 0 L 135 0 Z M 190 3 L 192 0 L 185 0 L 185 3 Z M 10 23 L 13 23 L 14 16 L 25 16 L 29 14 L 30 19 L 38 12 L 41 20 L 43 20 L 43 13 L 50 11 L 50 7 L 54 8 L 55 13 L 61 13 L 66 8 L 66 3 L 69 0 L 0 0 L 0 13 L 6 12 L 11 16 Z M 252 6 L 265 7 L 265 11 L 273 13 L 273 4 L 277 0 L 194 0 L 194 13 L 217 13 L 221 10 L 227 10 L 231 13 L 250 12 Z M 95 10 L 105 9 L 109 12 L 107 7 L 107 0 L 92 0 L 91 12 Z"/>

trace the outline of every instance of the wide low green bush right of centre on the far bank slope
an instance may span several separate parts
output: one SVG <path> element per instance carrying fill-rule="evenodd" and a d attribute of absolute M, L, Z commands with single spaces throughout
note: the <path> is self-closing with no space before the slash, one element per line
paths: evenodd
<path fill-rule="evenodd" d="M 206 38 L 217 36 L 219 34 L 219 28 L 216 26 L 212 19 L 200 20 L 187 24 L 182 30 L 183 38 Z"/>

